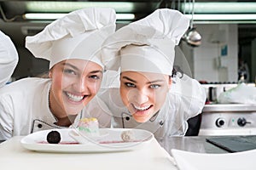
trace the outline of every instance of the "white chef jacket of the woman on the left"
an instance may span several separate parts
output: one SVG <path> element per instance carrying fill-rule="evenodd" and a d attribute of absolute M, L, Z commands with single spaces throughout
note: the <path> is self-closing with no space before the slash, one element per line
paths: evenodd
<path fill-rule="evenodd" d="M 0 140 L 27 135 L 40 130 L 61 128 L 49 111 L 48 78 L 24 78 L 0 89 Z M 100 127 L 110 127 L 111 116 L 107 107 L 95 97 L 76 117 L 71 127 L 77 127 L 82 117 L 94 116 Z M 91 112 L 93 111 L 93 113 Z"/>

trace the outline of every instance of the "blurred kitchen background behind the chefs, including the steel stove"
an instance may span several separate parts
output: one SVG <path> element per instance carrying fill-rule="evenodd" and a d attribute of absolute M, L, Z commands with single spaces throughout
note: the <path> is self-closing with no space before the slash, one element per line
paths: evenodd
<path fill-rule="evenodd" d="M 196 122 L 201 124 L 199 135 L 256 134 L 256 105 L 243 101 L 218 105 L 218 96 L 240 82 L 255 91 L 256 0 L 0 0 L 0 29 L 12 38 L 20 55 L 10 81 L 48 71 L 48 61 L 34 58 L 25 48 L 26 36 L 42 31 L 63 14 L 86 7 L 115 8 L 117 29 L 157 8 L 188 15 L 190 28 L 177 48 L 184 55 L 179 53 L 175 62 L 206 89 L 207 105 Z"/>

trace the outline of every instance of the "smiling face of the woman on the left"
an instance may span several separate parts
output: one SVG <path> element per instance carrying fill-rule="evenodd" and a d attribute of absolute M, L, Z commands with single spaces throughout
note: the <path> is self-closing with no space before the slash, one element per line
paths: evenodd
<path fill-rule="evenodd" d="M 54 65 L 49 77 L 50 110 L 62 118 L 79 114 L 96 95 L 102 82 L 102 67 L 84 59 L 67 59 Z"/>

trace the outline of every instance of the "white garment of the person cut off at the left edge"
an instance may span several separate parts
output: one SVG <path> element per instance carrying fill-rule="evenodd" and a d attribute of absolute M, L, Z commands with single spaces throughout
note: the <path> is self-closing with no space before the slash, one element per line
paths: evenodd
<path fill-rule="evenodd" d="M 19 57 L 14 43 L 0 31 L 0 88 L 9 81 L 18 60 Z"/>

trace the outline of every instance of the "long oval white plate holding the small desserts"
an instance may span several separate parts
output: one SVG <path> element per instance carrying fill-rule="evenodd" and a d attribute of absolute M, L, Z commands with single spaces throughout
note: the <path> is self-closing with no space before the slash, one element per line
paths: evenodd
<path fill-rule="evenodd" d="M 47 142 L 46 136 L 52 130 L 61 133 L 60 144 L 49 144 Z M 142 129 L 101 128 L 100 133 L 108 133 L 108 135 L 97 141 L 92 139 L 86 144 L 79 144 L 69 135 L 72 130 L 74 129 L 50 129 L 31 133 L 21 139 L 20 144 L 27 150 L 40 152 L 114 152 L 137 150 L 153 139 L 152 133 Z M 135 141 L 124 142 L 121 139 L 121 133 L 126 130 L 132 131 Z"/>

